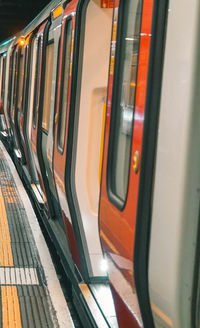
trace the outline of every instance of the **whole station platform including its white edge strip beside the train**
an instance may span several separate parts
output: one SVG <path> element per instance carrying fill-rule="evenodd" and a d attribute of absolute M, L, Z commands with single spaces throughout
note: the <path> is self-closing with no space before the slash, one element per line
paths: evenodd
<path fill-rule="evenodd" d="M 0 327 L 74 327 L 32 205 L 2 143 Z"/>

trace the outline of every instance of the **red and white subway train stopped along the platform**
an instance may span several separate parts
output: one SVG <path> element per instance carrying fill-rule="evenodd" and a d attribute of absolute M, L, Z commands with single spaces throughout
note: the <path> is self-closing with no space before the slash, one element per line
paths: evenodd
<path fill-rule="evenodd" d="M 200 325 L 200 4 L 53 0 L 0 44 L 0 135 L 84 327 Z"/>

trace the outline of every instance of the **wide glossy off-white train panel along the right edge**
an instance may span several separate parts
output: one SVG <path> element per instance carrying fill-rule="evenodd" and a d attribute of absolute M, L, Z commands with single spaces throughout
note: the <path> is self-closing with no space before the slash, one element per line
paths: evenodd
<path fill-rule="evenodd" d="M 199 4 L 168 9 L 149 252 L 157 328 L 199 327 Z"/>

